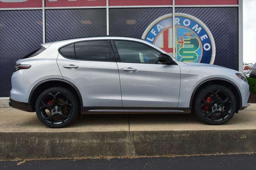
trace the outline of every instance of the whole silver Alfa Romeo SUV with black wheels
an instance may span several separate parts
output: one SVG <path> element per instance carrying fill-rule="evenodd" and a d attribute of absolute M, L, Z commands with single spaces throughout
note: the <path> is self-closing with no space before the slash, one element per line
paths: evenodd
<path fill-rule="evenodd" d="M 190 113 L 210 125 L 248 106 L 243 74 L 221 66 L 177 61 L 128 37 L 44 43 L 16 62 L 10 106 L 34 112 L 48 127 L 65 127 L 78 113 Z"/>

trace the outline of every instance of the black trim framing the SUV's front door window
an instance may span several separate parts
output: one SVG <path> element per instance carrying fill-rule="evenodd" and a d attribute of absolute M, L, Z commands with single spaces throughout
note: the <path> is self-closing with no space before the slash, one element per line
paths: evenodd
<path fill-rule="evenodd" d="M 154 47 L 151 47 L 150 45 L 145 44 L 145 43 L 142 43 L 142 42 L 140 42 L 140 41 L 134 41 L 134 40 L 128 40 L 128 39 L 111 39 L 111 44 L 112 44 L 112 47 L 113 47 L 113 50 L 114 50 L 114 54 L 115 54 L 116 62 L 117 62 L 117 63 L 128 63 L 128 62 L 121 61 L 120 56 L 119 56 L 119 54 L 118 54 L 118 50 L 117 50 L 117 48 L 116 48 L 116 44 L 115 44 L 114 41 L 131 41 L 131 42 L 134 42 L 134 43 L 140 43 L 140 44 L 146 45 L 146 46 L 148 46 L 149 48 L 151 48 L 151 49 L 153 49 L 153 50 L 159 52 L 160 54 L 162 54 L 162 52 L 159 51 L 158 49 L 155 49 Z M 163 64 L 163 63 L 136 63 L 136 64 Z M 164 64 L 164 65 L 178 65 L 178 64 L 177 64 L 175 61 L 173 61 L 172 64 Z"/>

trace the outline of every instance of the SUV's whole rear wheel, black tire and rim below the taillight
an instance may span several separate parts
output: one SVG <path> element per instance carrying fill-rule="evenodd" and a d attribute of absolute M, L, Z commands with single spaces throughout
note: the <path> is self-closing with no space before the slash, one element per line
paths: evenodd
<path fill-rule="evenodd" d="M 36 100 L 36 115 L 51 128 L 66 127 L 78 115 L 78 101 L 70 90 L 52 87 L 44 90 Z"/>

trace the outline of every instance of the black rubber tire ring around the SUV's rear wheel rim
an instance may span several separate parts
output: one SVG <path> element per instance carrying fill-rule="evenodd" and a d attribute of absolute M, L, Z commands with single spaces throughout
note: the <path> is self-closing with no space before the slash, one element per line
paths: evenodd
<path fill-rule="evenodd" d="M 42 118 L 41 111 L 39 109 L 40 102 L 41 102 L 42 98 L 44 98 L 44 96 L 46 96 L 50 92 L 61 92 L 61 93 L 65 94 L 66 96 L 68 96 L 68 98 L 70 99 L 70 104 L 72 104 L 72 113 L 71 113 L 70 118 L 68 120 L 66 120 L 64 123 L 61 123 L 61 124 L 51 124 L 51 123 L 48 123 L 47 121 L 45 121 Z M 61 128 L 61 127 L 66 127 L 70 123 L 74 122 L 74 120 L 76 119 L 76 117 L 78 115 L 78 103 L 77 103 L 76 96 L 72 92 L 70 92 L 70 90 L 68 90 L 66 88 L 62 88 L 62 87 L 52 87 L 52 88 L 48 88 L 47 90 L 44 90 L 38 96 L 38 98 L 36 100 L 35 110 L 36 110 L 36 115 L 37 115 L 38 119 L 44 125 L 46 125 L 48 127 L 51 127 L 51 128 Z"/>

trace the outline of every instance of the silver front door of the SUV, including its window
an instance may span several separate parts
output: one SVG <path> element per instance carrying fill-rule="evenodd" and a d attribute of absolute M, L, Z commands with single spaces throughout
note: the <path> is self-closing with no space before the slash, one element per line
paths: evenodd
<path fill-rule="evenodd" d="M 180 67 L 161 64 L 159 51 L 135 41 L 112 40 L 123 107 L 177 107 Z"/>

